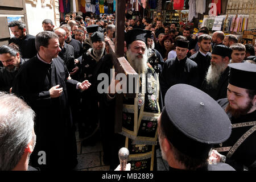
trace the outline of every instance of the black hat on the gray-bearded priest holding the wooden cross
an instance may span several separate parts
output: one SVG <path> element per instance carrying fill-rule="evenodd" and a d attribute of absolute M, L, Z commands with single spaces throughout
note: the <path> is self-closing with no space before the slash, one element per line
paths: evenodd
<path fill-rule="evenodd" d="M 134 28 L 125 34 L 126 47 L 135 40 L 142 40 L 147 45 L 147 33 L 141 28 Z"/>

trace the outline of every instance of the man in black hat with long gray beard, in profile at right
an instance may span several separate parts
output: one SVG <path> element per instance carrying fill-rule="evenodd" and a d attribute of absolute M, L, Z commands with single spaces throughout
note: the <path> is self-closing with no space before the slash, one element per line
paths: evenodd
<path fill-rule="evenodd" d="M 226 98 L 226 87 L 228 86 L 229 59 L 232 49 L 224 45 L 213 47 L 212 59 L 208 68 L 201 90 L 209 94 L 214 100 Z"/>

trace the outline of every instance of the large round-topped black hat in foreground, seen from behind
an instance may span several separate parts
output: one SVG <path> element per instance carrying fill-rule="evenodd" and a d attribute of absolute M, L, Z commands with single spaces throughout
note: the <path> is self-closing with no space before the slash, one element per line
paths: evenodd
<path fill-rule="evenodd" d="M 203 91 L 186 84 L 168 89 L 161 123 L 167 139 L 192 158 L 208 155 L 213 144 L 224 142 L 232 125 L 218 103 Z"/>

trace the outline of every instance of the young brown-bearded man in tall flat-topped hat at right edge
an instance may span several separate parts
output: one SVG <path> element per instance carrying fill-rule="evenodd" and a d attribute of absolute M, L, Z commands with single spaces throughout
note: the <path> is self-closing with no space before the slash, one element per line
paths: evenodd
<path fill-rule="evenodd" d="M 256 169 L 256 65 L 232 63 L 228 98 L 218 100 L 232 123 L 228 140 L 214 148 L 217 162 L 227 163 L 237 171 Z M 220 152 L 220 154 L 218 153 Z"/>

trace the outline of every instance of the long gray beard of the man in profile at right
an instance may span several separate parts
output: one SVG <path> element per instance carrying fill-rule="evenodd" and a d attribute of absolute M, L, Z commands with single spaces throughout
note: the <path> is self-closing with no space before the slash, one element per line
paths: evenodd
<path fill-rule="evenodd" d="M 207 81 L 207 84 L 213 88 L 216 89 L 218 86 L 218 80 L 220 79 L 221 74 L 225 71 L 226 64 L 221 63 L 220 65 L 210 65 L 208 68 L 207 75 L 205 77 L 205 80 Z"/>

